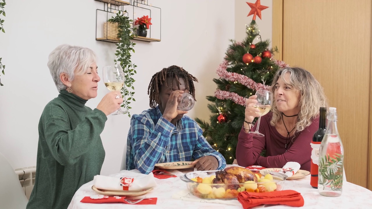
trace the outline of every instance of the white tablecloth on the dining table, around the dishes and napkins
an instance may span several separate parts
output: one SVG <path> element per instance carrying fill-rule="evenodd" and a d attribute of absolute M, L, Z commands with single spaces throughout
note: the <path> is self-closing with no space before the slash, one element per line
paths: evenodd
<path fill-rule="evenodd" d="M 237 166 L 237 165 L 227 165 Z M 219 199 L 200 199 L 193 196 L 186 187 L 186 183 L 180 179 L 180 176 L 187 172 L 194 171 L 193 168 L 168 170 L 177 177 L 167 179 L 156 179 L 157 186 L 150 192 L 138 197 L 154 198 L 157 197 L 155 205 L 131 205 L 125 203 L 82 203 L 84 197 L 97 195 L 93 189 L 93 181 L 83 184 L 74 194 L 73 199 L 68 206 L 68 209 L 241 209 L 243 206 L 238 200 L 219 200 Z M 111 177 L 120 177 L 120 173 L 111 174 Z M 286 180 L 284 190 L 295 190 L 301 193 L 304 198 L 305 209 L 370 209 L 372 208 L 372 191 L 358 186 L 356 184 L 344 181 L 342 194 L 339 197 L 327 197 L 319 194 L 317 189 L 310 186 L 310 175 L 304 176 L 301 179 Z M 292 208 L 287 205 L 261 205 L 255 208 Z"/>

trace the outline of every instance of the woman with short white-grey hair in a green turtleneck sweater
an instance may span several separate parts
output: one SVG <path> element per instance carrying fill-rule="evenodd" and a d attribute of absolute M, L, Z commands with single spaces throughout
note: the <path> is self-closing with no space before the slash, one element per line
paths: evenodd
<path fill-rule="evenodd" d="M 67 208 L 79 187 L 100 174 L 105 150 L 100 134 L 107 115 L 123 102 L 119 91 L 97 96 L 96 55 L 91 49 L 60 45 L 49 54 L 48 67 L 60 94 L 44 108 L 39 121 L 36 180 L 28 209 Z"/>

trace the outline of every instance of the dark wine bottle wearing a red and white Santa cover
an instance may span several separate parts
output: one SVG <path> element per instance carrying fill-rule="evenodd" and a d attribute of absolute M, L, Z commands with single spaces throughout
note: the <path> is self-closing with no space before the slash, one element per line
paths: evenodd
<path fill-rule="evenodd" d="M 310 166 L 310 185 L 313 188 L 318 188 L 318 165 L 319 165 L 319 148 L 320 143 L 323 140 L 325 135 L 326 125 L 325 125 L 325 118 L 327 113 L 327 108 L 320 107 L 319 109 L 319 129 L 315 132 L 312 136 L 311 142 L 311 166 Z"/>

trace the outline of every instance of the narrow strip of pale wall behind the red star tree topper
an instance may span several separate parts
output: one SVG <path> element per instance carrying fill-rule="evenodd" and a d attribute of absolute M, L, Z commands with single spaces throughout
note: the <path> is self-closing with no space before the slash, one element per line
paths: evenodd
<path fill-rule="evenodd" d="M 253 15 L 248 16 L 251 7 L 248 6 L 249 3 L 256 3 L 256 0 L 235 0 L 235 40 L 242 41 L 246 38 L 246 25 L 249 25 L 252 21 Z M 262 20 L 256 16 L 256 23 L 260 30 L 260 35 L 262 41 L 272 39 L 272 19 L 273 19 L 273 0 L 261 0 L 261 5 L 267 6 L 261 11 Z M 257 42 L 257 39 L 254 43 Z"/>

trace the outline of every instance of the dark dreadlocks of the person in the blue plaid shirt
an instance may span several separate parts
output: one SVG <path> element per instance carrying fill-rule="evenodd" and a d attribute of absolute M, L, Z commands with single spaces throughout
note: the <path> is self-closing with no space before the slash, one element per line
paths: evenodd
<path fill-rule="evenodd" d="M 177 86 L 180 89 L 180 78 L 185 80 L 186 89 L 189 90 L 189 93 L 195 99 L 195 87 L 194 82 L 198 82 L 198 79 L 195 78 L 193 75 L 189 74 L 186 70 L 182 67 L 178 67 L 177 65 L 172 65 L 169 68 L 163 68 L 163 70 L 155 73 L 151 78 L 150 84 L 148 85 L 147 94 L 150 96 L 150 107 L 156 107 L 156 100 L 159 98 L 159 93 L 161 90 L 161 86 L 165 83 L 166 87 L 168 87 L 167 78 L 170 78 L 171 81 L 171 88 L 173 89 L 173 78 L 177 80 Z"/>

